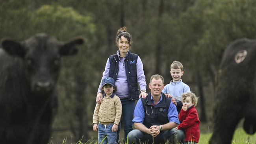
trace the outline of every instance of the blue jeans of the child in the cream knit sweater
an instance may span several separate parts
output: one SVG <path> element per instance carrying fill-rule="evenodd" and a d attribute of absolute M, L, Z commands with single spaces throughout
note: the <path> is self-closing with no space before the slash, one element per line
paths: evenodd
<path fill-rule="evenodd" d="M 100 123 L 98 124 L 98 144 L 100 143 L 116 144 L 117 143 L 116 142 L 117 133 L 112 132 L 112 126 L 113 124 L 100 124 Z"/>

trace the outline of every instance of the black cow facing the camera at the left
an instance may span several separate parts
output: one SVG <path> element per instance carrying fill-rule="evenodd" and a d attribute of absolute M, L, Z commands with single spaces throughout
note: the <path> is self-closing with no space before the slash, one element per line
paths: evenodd
<path fill-rule="evenodd" d="M 61 56 L 78 52 L 82 38 L 61 42 L 39 33 L 0 48 L 0 143 L 47 144 L 57 109 Z"/>

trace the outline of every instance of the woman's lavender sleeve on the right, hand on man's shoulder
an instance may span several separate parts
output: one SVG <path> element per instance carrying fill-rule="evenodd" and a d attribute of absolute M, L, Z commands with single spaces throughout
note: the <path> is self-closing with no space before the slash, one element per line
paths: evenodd
<path fill-rule="evenodd" d="M 146 77 L 144 75 L 143 64 L 139 56 L 137 59 L 136 67 L 137 67 L 137 81 L 139 83 L 139 88 L 140 90 L 146 90 L 147 89 Z"/>

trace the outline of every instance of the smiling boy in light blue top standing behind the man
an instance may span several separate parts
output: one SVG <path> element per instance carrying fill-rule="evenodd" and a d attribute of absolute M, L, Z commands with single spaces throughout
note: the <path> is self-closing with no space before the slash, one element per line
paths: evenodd
<path fill-rule="evenodd" d="M 165 85 L 163 93 L 168 98 L 172 98 L 172 102 L 176 105 L 178 113 L 182 108 L 181 95 L 184 92 L 190 92 L 189 86 L 182 82 L 181 76 L 184 74 L 183 65 L 179 61 L 171 64 L 171 76 L 173 80 Z"/>

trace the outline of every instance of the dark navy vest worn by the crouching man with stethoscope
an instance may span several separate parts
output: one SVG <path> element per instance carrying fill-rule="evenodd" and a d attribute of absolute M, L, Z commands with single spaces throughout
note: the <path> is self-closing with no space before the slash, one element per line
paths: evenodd
<path fill-rule="evenodd" d="M 153 125 L 159 126 L 167 124 L 168 119 L 168 109 L 171 103 L 171 98 L 167 98 L 163 93 L 162 101 L 158 103 L 157 107 L 154 107 L 154 104 L 151 100 L 151 92 L 146 98 L 141 98 L 141 102 L 145 112 L 145 118 L 143 124 L 149 128 Z"/>

